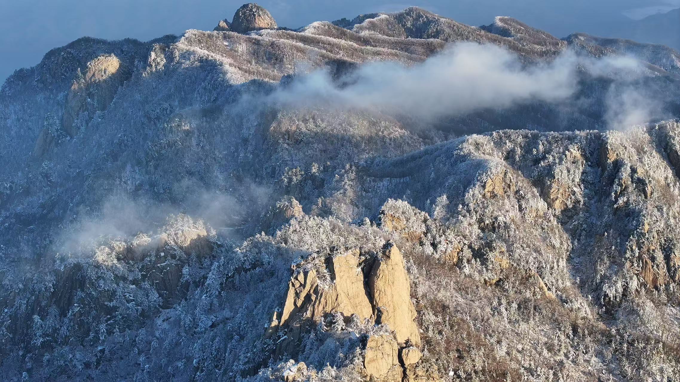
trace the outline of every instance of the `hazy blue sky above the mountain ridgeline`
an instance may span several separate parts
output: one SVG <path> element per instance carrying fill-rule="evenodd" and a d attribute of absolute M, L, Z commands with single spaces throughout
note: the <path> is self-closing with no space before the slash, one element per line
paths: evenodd
<path fill-rule="evenodd" d="M 0 0 L 0 82 L 14 69 L 37 64 L 48 50 L 84 35 L 148 40 L 186 29 L 211 30 L 243 0 Z M 558 37 L 598 34 L 626 16 L 639 18 L 680 7 L 680 0 L 261 0 L 279 25 L 392 12 L 411 5 L 465 22 L 488 24 L 513 16 Z M 624 14 L 626 16 L 624 16 Z"/>

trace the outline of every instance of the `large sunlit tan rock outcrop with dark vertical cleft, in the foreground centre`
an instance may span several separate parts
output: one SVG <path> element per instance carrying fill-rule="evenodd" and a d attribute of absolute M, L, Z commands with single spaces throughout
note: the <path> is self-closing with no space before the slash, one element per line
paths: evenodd
<path fill-rule="evenodd" d="M 367 377 L 401 381 L 403 366 L 420 360 L 420 334 L 404 259 L 394 243 L 381 254 L 367 256 L 352 249 L 335 256 L 311 256 L 293 266 L 280 319 L 277 313 L 267 336 L 282 334 L 275 357 L 299 351 L 299 344 L 328 315 L 345 322 L 380 325 L 390 332 L 371 334 L 364 348 Z M 404 362 L 399 361 L 400 348 Z M 405 355 L 405 358 L 404 358 Z"/>

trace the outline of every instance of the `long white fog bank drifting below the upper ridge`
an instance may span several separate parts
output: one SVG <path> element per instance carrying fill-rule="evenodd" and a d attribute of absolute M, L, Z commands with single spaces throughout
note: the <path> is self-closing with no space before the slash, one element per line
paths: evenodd
<path fill-rule="evenodd" d="M 418 65 L 361 65 L 341 86 L 326 70 L 304 73 L 271 94 L 270 101 L 282 107 L 370 109 L 430 121 L 532 102 L 567 103 L 579 90 L 579 71 L 610 78 L 617 73 L 617 78 L 632 81 L 643 70 L 632 57 L 591 58 L 567 50 L 547 63 L 524 63 L 514 52 L 492 44 L 458 43 Z M 648 107 L 653 103 L 628 102 L 643 97 L 628 93 L 626 99 L 613 94 L 606 100 L 608 128 L 647 122 L 655 115 Z"/>

